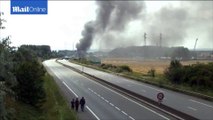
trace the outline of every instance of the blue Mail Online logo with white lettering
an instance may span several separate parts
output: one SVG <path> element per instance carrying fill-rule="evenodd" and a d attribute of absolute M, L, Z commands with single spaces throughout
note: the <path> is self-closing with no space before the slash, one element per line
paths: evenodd
<path fill-rule="evenodd" d="M 47 0 L 11 0 L 11 14 L 47 14 Z"/>

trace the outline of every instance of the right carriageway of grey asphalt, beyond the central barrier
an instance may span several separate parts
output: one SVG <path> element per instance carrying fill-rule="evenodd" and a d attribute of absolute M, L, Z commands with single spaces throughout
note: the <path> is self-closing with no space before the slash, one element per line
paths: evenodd
<path fill-rule="evenodd" d="M 164 105 L 170 106 L 176 110 L 182 111 L 198 119 L 213 120 L 213 102 L 159 88 L 153 85 L 129 80 L 121 76 L 109 74 L 95 69 L 82 67 L 80 65 L 70 63 L 66 60 L 59 60 L 59 62 L 72 66 L 85 73 L 94 75 L 98 78 L 101 78 L 156 101 L 157 94 L 159 92 L 162 92 L 165 96 L 165 98 L 163 99 Z"/>

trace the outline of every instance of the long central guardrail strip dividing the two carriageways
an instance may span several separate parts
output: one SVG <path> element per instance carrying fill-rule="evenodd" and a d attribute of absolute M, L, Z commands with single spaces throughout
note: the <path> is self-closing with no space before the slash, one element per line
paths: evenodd
<path fill-rule="evenodd" d="M 115 90 L 115 91 L 117 91 L 119 93 L 122 93 L 122 94 L 124 94 L 124 95 L 126 95 L 128 97 L 131 97 L 131 98 L 133 98 L 133 99 L 135 99 L 137 101 L 143 102 L 146 105 L 148 105 L 148 106 L 150 106 L 152 108 L 155 108 L 155 109 L 157 109 L 159 111 L 162 111 L 163 113 L 168 114 L 168 115 L 170 115 L 170 116 L 172 116 L 172 117 L 174 117 L 176 119 L 179 119 L 179 120 L 198 120 L 197 118 L 195 118 L 195 117 L 193 117 L 191 115 L 188 115 L 186 113 L 178 111 L 178 110 L 176 110 L 174 108 L 171 108 L 169 106 L 166 106 L 164 104 L 160 104 L 159 105 L 159 103 L 157 101 L 154 101 L 154 100 L 152 100 L 150 98 L 144 97 L 144 96 L 142 96 L 140 94 L 137 94 L 135 92 L 127 90 L 127 89 L 125 89 L 125 88 L 123 88 L 121 86 L 115 85 L 113 83 L 110 83 L 110 82 L 108 82 L 106 80 L 103 80 L 103 79 L 98 78 L 96 76 L 93 76 L 91 74 L 87 74 L 87 73 L 85 73 L 83 71 L 80 71 L 80 70 L 74 68 L 74 67 L 65 65 L 65 64 L 63 64 L 61 62 L 58 62 L 57 60 L 56 60 L 56 62 L 61 64 L 61 65 L 63 65 L 63 66 L 65 66 L 65 67 L 67 67 L 67 68 L 70 68 L 71 70 L 73 70 L 75 72 L 78 72 L 78 73 L 84 75 L 85 77 L 88 77 L 90 79 L 95 80 L 96 82 L 104 84 L 105 86 L 108 86 L 108 87 L 112 88 L 113 90 Z"/>

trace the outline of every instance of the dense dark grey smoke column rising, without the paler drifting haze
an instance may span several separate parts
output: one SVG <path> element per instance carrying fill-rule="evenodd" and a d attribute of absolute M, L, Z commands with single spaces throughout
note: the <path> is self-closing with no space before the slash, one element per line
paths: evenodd
<path fill-rule="evenodd" d="M 97 35 L 107 36 L 111 31 L 123 31 L 131 20 L 139 18 L 143 8 L 141 3 L 143 2 L 138 4 L 137 1 L 96 1 L 96 20 L 85 25 L 83 38 L 76 45 L 77 50 L 87 51 Z"/>

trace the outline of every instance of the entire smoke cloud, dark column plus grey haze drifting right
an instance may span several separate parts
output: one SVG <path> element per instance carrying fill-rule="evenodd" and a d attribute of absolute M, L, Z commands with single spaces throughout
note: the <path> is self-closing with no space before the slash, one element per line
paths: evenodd
<path fill-rule="evenodd" d="M 144 1 L 109 0 L 96 4 L 96 20 L 85 25 L 86 35 L 77 44 L 78 50 L 87 51 L 94 39 L 101 49 L 144 45 L 144 33 L 148 45 L 159 45 L 160 33 L 162 46 L 180 46 L 195 38 L 202 39 L 199 45 L 204 48 L 213 43 L 213 1 L 180 1 L 178 7 L 166 5 L 155 12 L 147 12 Z M 135 21 L 140 22 L 129 26 Z"/>

